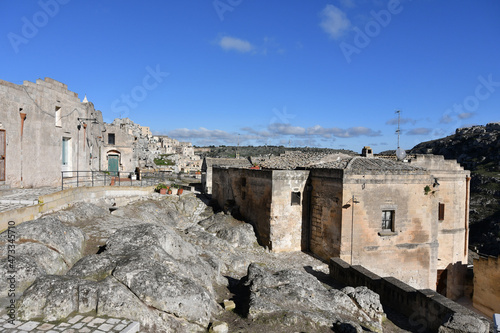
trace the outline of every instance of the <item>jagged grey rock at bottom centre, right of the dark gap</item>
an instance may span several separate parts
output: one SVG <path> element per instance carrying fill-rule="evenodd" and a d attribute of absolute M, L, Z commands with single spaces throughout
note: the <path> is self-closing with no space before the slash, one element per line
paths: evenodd
<path fill-rule="evenodd" d="M 382 331 L 379 322 L 359 309 L 345 293 L 327 290 L 305 271 L 290 269 L 271 273 L 253 263 L 248 267 L 245 285 L 250 292 L 248 316 L 253 320 L 272 320 L 284 326 L 307 322 L 313 326 L 309 330 L 350 320 Z"/>

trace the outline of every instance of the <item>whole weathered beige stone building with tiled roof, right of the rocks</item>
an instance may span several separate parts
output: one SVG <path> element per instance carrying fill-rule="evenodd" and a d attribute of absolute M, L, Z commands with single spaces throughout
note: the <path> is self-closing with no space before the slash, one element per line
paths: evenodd
<path fill-rule="evenodd" d="M 214 168 L 212 197 L 273 251 L 339 257 L 415 288 L 449 285 L 447 268 L 467 262 L 470 178 L 455 161 L 332 155 L 300 170 L 297 159 L 289 170 L 273 161 L 263 170 Z"/>

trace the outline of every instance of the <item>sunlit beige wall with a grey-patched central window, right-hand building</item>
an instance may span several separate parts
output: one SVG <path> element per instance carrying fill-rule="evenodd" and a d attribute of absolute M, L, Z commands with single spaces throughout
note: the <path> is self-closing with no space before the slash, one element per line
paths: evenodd
<path fill-rule="evenodd" d="M 428 182 L 425 173 L 344 175 L 340 258 L 435 289 L 437 221 L 435 198 L 424 194 Z M 392 211 L 390 229 L 382 228 L 383 211 Z"/>

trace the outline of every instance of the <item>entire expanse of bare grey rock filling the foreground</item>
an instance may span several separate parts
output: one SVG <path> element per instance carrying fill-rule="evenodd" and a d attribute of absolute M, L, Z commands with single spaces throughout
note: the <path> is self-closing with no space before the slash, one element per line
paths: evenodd
<path fill-rule="evenodd" d="M 250 224 L 194 195 L 77 203 L 17 234 L 23 320 L 80 313 L 137 320 L 143 332 L 404 332 L 377 294 L 335 285 L 305 253 L 266 251 Z M 2 263 L 6 243 L 3 233 Z"/>

